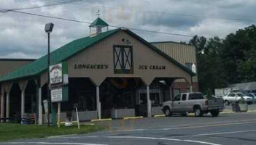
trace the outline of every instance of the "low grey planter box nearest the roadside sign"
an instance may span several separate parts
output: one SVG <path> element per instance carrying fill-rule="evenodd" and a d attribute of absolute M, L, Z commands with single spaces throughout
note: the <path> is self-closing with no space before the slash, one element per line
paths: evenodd
<path fill-rule="evenodd" d="M 97 111 L 83 111 L 78 112 L 79 121 L 86 121 L 86 120 L 95 120 L 98 119 Z M 77 120 L 77 112 L 72 112 L 72 120 Z"/>

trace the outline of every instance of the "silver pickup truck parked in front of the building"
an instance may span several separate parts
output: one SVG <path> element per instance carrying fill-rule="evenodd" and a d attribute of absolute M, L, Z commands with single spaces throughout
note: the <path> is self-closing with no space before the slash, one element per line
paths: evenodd
<path fill-rule="evenodd" d="M 206 99 L 203 97 L 203 94 L 197 92 L 177 94 L 173 100 L 163 102 L 162 108 L 166 117 L 174 113 L 186 116 L 190 112 L 194 112 L 196 117 L 201 117 L 208 112 L 213 117 L 217 117 L 223 109 L 223 99 L 214 97 Z"/>

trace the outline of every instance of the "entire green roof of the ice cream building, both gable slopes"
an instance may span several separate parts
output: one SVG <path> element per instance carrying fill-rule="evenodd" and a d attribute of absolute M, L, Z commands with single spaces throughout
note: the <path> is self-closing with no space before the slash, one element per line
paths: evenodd
<path fill-rule="evenodd" d="M 52 51 L 50 53 L 50 65 L 57 64 L 58 62 L 62 62 L 66 59 L 69 59 L 74 54 L 77 54 L 79 51 L 82 51 L 84 49 L 89 48 L 95 43 L 98 43 L 98 41 L 102 41 L 104 38 L 107 38 L 111 36 L 112 34 L 118 32 L 119 30 L 123 29 L 115 29 L 115 30 L 109 30 L 104 33 L 99 33 L 97 36 L 93 37 L 85 37 L 85 38 L 79 38 L 77 40 L 71 41 L 70 43 L 67 43 L 64 46 L 61 46 L 59 49 L 56 49 L 55 51 Z M 182 68 L 182 70 L 185 70 L 190 75 L 195 75 L 194 72 L 189 70 L 184 65 L 181 65 L 179 62 L 177 62 L 175 59 L 169 57 L 167 54 L 165 54 L 163 51 L 160 51 L 158 48 L 153 46 L 151 43 L 148 43 L 143 38 L 137 36 L 135 33 L 131 32 L 131 30 L 124 30 L 126 33 L 130 34 L 131 36 L 137 38 L 141 43 L 146 44 L 150 47 L 150 49 L 153 49 L 154 51 L 158 52 L 158 54 L 162 55 L 163 57 L 166 57 L 170 62 L 173 62 L 178 67 Z M 28 65 L 24 65 L 23 67 L 18 68 L 18 70 L 12 71 L 7 75 L 4 75 L 2 78 L 0 78 L 0 82 L 4 82 L 7 80 L 18 80 L 20 78 L 28 78 L 36 75 L 40 75 L 41 72 L 44 72 L 47 70 L 47 55 L 44 57 L 41 57 L 37 59 L 34 62 L 31 62 Z"/>

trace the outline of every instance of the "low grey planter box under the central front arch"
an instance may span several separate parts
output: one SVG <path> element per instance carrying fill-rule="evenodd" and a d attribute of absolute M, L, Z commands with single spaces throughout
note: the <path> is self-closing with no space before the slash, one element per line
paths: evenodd
<path fill-rule="evenodd" d="M 123 117 L 134 117 L 135 109 L 112 109 L 111 117 L 112 118 L 123 118 Z"/>

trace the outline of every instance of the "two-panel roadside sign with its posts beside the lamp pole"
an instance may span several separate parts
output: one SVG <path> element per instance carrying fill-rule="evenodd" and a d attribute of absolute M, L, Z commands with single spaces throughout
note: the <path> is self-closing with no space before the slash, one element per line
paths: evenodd
<path fill-rule="evenodd" d="M 58 127 L 61 126 L 61 102 L 69 99 L 69 77 L 67 76 L 66 63 L 59 63 L 49 67 L 50 70 L 50 94 L 52 102 L 52 123 L 56 126 L 56 109 L 58 108 Z M 65 77 L 64 77 L 65 76 Z"/>

